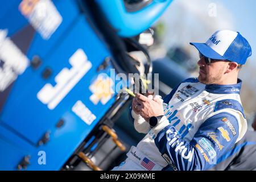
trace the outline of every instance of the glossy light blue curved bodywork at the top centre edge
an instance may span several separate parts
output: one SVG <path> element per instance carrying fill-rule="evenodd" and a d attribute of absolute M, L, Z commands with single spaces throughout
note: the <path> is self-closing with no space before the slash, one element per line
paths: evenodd
<path fill-rule="evenodd" d="M 106 18 L 117 30 L 118 35 L 130 37 L 147 30 L 166 10 L 172 0 L 153 0 L 141 10 L 129 12 L 121 0 L 96 0 Z"/>

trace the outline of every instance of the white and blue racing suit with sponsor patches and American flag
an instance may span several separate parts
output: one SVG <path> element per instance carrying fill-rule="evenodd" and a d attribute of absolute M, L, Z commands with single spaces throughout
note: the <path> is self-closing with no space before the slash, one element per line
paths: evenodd
<path fill-rule="evenodd" d="M 246 132 L 242 81 L 204 85 L 181 82 L 164 98 L 164 117 L 153 129 L 131 111 L 134 127 L 147 134 L 113 170 L 205 170 L 213 167 Z"/>

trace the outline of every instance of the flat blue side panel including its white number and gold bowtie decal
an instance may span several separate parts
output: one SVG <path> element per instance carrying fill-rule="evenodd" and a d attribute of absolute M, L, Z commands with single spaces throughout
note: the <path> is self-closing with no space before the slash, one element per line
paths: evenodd
<path fill-rule="evenodd" d="M 97 71 L 112 55 L 84 15 L 77 11 L 65 21 L 67 9 L 75 6 L 72 1 L 56 1 L 54 5 L 62 21 L 50 38 L 29 27 L 31 22 L 28 24 L 21 15 L 17 27 L 8 23 L 1 27 L 0 35 L 16 49 L 24 49 L 19 47 L 19 35 L 34 30 L 34 36 L 26 52 L 18 51 L 23 55 L 23 64 L 11 65 L 8 57 L 3 59 L 3 64 L 10 64 L 17 72 L 27 68 L 1 93 L 0 169 L 17 169 L 25 156 L 30 156 L 28 170 L 60 169 L 114 103 L 112 64 Z M 35 55 L 42 60 L 36 69 L 31 65 Z M 102 92 L 102 88 L 107 90 Z M 59 121 L 63 126 L 56 127 Z M 46 135 L 48 141 L 44 144 Z M 40 163 L 41 155 L 46 156 L 46 164 Z"/>

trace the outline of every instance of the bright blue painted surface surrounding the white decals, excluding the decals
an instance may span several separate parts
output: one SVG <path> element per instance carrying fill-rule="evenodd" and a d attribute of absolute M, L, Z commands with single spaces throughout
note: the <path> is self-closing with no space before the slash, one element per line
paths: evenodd
<path fill-rule="evenodd" d="M 18 4 L 15 4 L 16 6 Z M 35 32 L 30 47 L 27 49 L 28 59 L 31 60 L 34 55 L 38 55 L 43 61 L 42 64 L 38 69 L 28 67 L 15 80 L 9 97 L 2 108 L 0 115 L 2 134 L 3 130 L 7 131 L 5 131 L 4 138 L 2 137 L 1 140 L 1 142 L 5 142 L 2 143 L 1 148 L 3 158 L 0 162 L 0 169 L 17 169 L 18 163 L 26 155 L 31 156 L 31 164 L 27 169 L 60 169 L 114 102 L 115 95 L 112 95 L 112 98 L 106 104 L 101 102 L 93 104 L 89 99 L 93 95 L 89 86 L 93 84 L 97 76 L 100 73 L 106 73 L 110 76 L 110 68 L 113 68 L 111 64 L 101 72 L 97 72 L 97 68 L 102 64 L 105 57 L 111 57 L 112 55 L 90 28 L 84 15 L 79 15 L 74 1 L 56 1 L 55 6 L 63 17 L 63 22 L 48 40 L 42 39 L 42 36 Z M 10 14 L 16 13 L 15 20 L 9 19 L 1 23 L 1 29 L 7 30 L 7 36 L 11 37 L 20 31 L 20 27 L 28 25 L 27 19 L 19 14 L 19 11 L 15 13 L 13 11 L 18 11 L 18 9 L 10 11 Z M 16 22 L 17 19 L 20 19 L 19 23 L 11 23 Z M 61 70 L 72 68 L 69 59 L 78 49 L 84 51 L 88 61 L 92 63 L 92 67 L 88 68 L 88 72 L 54 109 L 49 109 L 46 104 L 39 100 L 37 94 L 46 84 L 55 86 L 57 84 L 56 76 Z M 100 51 L 96 53 L 96 50 Z M 52 75 L 48 79 L 42 78 L 42 72 L 46 68 L 52 70 Z M 82 121 L 72 111 L 72 107 L 79 100 L 96 116 L 96 119 L 90 125 Z M 64 125 L 58 129 L 56 123 L 60 119 L 64 120 Z M 49 142 L 38 146 L 40 138 L 47 131 L 49 131 Z M 23 143 L 26 143 L 26 145 L 23 144 L 19 149 L 15 149 L 15 144 L 11 145 L 6 142 L 12 141 L 15 143 L 17 138 L 25 140 L 26 142 L 23 141 Z M 14 150 L 17 152 L 10 152 Z M 39 165 L 39 151 L 46 152 L 46 165 Z M 10 154 L 10 157 L 6 157 L 7 154 Z"/>

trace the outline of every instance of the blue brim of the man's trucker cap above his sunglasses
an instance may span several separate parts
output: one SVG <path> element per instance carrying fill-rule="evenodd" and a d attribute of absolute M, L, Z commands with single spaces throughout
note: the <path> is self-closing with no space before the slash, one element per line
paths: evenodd
<path fill-rule="evenodd" d="M 210 59 L 225 60 L 226 58 L 219 55 L 212 48 L 207 46 L 205 43 L 190 43 L 192 46 L 195 46 L 199 52 L 204 56 L 209 57 Z"/>

